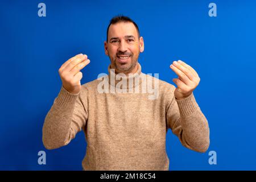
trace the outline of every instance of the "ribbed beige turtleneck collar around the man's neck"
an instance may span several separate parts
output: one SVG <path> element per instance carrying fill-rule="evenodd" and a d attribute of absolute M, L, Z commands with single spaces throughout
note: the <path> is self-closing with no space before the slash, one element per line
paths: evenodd
<path fill-rule="evenodd" d="M 135 80 L 137 80 L 137 78 L 139 78 L 142 73 L 141 72 L 141 64 L 139 64 L 139 63 L 137 63 L 137 64 L 138 64 L 137 72 L 129 73 L 128 75 L 125 75 L 124 73 L 119 73 L 119 74 L 115 73 L 115 70 L 110 68 L 111 67 L 111 64 L 110 64 L 108 67 L 109 84 L 114 86 L 117 89 L 124 89 L 123 88 L 124 86 L 126 86 L 127 89 L 133 89 L 133 88 L 137 87 L 140 84 L 141 79 L 139 79 L 139 82 L 135 81 Z M 122 83 L 126 83 L 126 85 L 119 83 L 120 81 Z"/>

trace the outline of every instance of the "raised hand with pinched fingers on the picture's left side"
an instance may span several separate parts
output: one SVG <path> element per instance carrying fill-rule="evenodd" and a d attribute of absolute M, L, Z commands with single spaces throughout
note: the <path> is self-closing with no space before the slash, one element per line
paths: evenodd
<path fill-rule="evenodd" d="M 72 94 L 78 94 L 81 90 L 82 72 L 80 70 L 90 63 L 86 55 L 80 53 L 67 60 L 59 69 L 63 87 Z"/>

